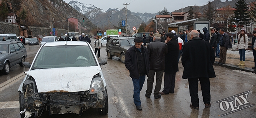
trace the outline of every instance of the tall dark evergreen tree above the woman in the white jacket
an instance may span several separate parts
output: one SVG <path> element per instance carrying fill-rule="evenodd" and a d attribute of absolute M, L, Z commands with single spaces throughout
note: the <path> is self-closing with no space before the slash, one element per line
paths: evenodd
<path fill-rule="evenodd" d="M 248 6 L 245 2 L 245 0 L 237 0 L 235 4 L 236 7 L 234 7 L 236 10 L 234 11 L 235 16 L 232 16 L 232 21 L 238 23 L 238 26 L 249 24 L 250 14 L 248 12 Z"/>

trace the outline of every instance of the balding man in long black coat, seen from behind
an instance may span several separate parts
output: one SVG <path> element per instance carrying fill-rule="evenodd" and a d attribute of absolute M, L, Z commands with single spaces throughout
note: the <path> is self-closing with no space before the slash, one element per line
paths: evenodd
<path fill-rule="evenodd" d="M 191 40 L 183 46 L 181 57 L 183 79 L 188 78 L 191 97 L 190 107 L 199 109 L 198 78 L 200 80 L 202 96 L 205 107 L 211 106 L 210 80 L 216 77 L 212 64 L 214 63 L 214 50 L 209 42 L 199 38 L 197 30 L 191 31 Z"/>

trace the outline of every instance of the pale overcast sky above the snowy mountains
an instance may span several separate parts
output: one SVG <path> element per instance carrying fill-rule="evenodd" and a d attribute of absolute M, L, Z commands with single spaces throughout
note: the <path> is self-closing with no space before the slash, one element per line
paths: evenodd
<path fill-rule="evenodd" d="M 66 3 L 71 0 L 64 0 Z M 165 8 L 172 12 L 186 6 L 203 6 L 207 4 L 208 0 L 76 0 L 84 4 L 92 4 L 98 8 L 107 11 L 109 8 L 120 8 L 125 7 L 123 3 L 130 3 L 127 5 L 127 9 L 131 12 L 140 13 L 157 13 L 158 11 L 164 10 Z M 213 1 L 213 0 L 211 0 Z M 221 0 L 225 2 L 226 0 Z M 231 0 L 228 0 L 231 1 Z"/>

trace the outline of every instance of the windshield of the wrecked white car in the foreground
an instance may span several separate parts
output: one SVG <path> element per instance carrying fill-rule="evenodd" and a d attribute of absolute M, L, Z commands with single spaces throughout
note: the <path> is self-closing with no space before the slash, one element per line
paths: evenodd
<path fill-rule="evenodd" d="M 32 69 L 87 66 L 97 66 L 89 46 L 46 46 L 37 54 Z"/>

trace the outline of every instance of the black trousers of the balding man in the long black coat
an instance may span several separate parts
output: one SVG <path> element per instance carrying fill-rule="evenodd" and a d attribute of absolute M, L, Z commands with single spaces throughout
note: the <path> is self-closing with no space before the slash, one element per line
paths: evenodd
<path fill-rule="evenodd" d="M 210 79 L 200 77 L 199 80 L 200 80 L 204 104 L 210 104 L 210 102 L 211 102 Z M 199 107 L 198 78 L 188 79 L 188 85 L 189 85 L 189 89 L 190 89 L 191 103 L 194 107 Z"/>

